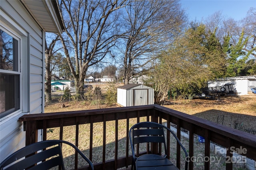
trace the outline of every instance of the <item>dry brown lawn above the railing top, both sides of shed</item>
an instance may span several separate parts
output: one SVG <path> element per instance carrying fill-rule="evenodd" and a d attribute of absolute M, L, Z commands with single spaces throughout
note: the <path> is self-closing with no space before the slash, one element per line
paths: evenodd
<path fill-rule="evenodd" d="M 164 105 L 164 107 L 201 117 L 228 127 L 234 128 L 234 123 L 238 123 L 244 128 L 255 128 L 256 130 L 256 94 L 223 96 L 219 100 L 169 100 L 168 102 L 172 104 Z M 63 103 L 65 107 L 62 107 Z M 107 107 L 119 106 L 107 106 L 106 104 L 92 105 L 88 101 L 54 102 L 52 104 L 46 104 L 44 112 L 54 113 Z"/>

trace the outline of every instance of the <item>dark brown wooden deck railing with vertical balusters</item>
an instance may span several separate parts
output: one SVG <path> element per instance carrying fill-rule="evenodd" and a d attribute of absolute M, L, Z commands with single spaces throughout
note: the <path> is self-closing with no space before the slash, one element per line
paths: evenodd
<path fill-rule="evenodd" d="M 136 122 L 140 122 L 140 118 L 144 117 L 145 121 L 154 121 L 157 123 L 167 122 L 167 125 L 175 124 L 177 128 L 177 136 L 181 137 L 181 128 L 189 131 L 189 147 L 187 150 L 189 157 L 194 156 L 194 134 L 200 135 L 205 138 L 204 156 L 210 158 L 210 142 L 214 142 L 227 149 L 246 149 L 246 152 L 241 152 L 247 158 L 256 160 L 256 136 L 245 133 L 236 129 L 225 127 L 205 119 L 201 119 L 192 115 L 188 115 L 179 111 L 168 109 L 159 105 L 148 106 L 134 106 L 134 107 L 118 107 L 108 109 L 94 109 L 84 111 L 70 111 L 59 113 L 45 113 L 45 114 L 32 114 L 20 117 L 19 121 L 24 122 L 24 131 L 26 131 L 26 145 L 37 142 L 37 130 L 43 129 L 43 140 L 46 140 L 47 129 L 59 127 L 59 139 L 63 139 L 63 127 L 75 125 L 75 145 L 79 148 L 79 125 L 90 124 L 90 149 L 89 158 L 92 160 L 93 154 L 93 123 L 103 123 L 103 146 L 102 146 L 102 160 L 94 162 L 96 170 L 116 170 L 121 167 L 128 167 L 132 162 L 132 157 L 129 154 L 130 145 L 128 139 L 128 131 L 130 127 L 130 119 L 136 118 Z M 126 120 L 126 144 L 125 156 L 118 157 L 118 122 Z M 115 129 L 114 141 L 114 159 L 106 161 L 106 122 L 114 121 L 112 125 Z M 170 146 L 170 141 L 167 141 L 167 146 Z M 154 150 L 151 150 L 154 152 Z M 170 154 L 170 150 L 168 150 Z M 170 156 L 170 155 L 168 155 Z M 232 152 L 226 153 L 227 158 L 232 158 Z M 180 166 L 180 148 L 176 149 L 176 164 Z M 189 160 L 189 159 L 188 159 Z M 232 161 L 231 161 L 232 162 Z M 189 170 L 193 170 L 193 161 L 189 162 Z M 78 158 L 75 155 L 75 169 L 78 168 Z M 88 167 L 82 167 L 88 169 Z M 210 161 L 204 161 L 204 169 L 210 169 Z M 232 163 L 226 164 L 226 170 L 232 169 Z"/>

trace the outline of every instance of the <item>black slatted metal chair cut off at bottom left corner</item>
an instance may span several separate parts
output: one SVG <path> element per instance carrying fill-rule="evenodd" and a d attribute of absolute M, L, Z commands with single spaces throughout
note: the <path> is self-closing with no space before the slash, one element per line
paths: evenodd
<path fill-rule="evenodd" d="M 88 162 L 91 170 L 94 170 L 92 162 L 75 145 L 62 140 L 48 140 L 28 145 L 3 160 L 0 168 L 1 170 L 47 170 L 59 166 L 64 170 L 62 143 L 73 147 Z M 48 147 L 49 149 L 46 149 Z"/>

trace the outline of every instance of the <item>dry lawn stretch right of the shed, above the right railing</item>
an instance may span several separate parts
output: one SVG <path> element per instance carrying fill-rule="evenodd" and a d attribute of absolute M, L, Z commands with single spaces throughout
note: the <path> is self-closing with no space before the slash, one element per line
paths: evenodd
<path fill-rule="evenodd" d="M 219 100 L 174 100 L 165 107 L 234 128 L 256 130 L 256 94 L 223 96 Z"/>

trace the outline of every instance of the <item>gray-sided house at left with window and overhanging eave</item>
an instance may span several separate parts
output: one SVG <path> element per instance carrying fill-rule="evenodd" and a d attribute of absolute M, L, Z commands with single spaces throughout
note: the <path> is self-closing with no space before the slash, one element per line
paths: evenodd
<path fill-rule="evenodd" d="M 1 55 L 11 56 L 0 68 L 0 162 L 25 146 L 19 117 L 44 112 L 45 32 L 63 28 L 56 1 L 0 1 Z"/>

